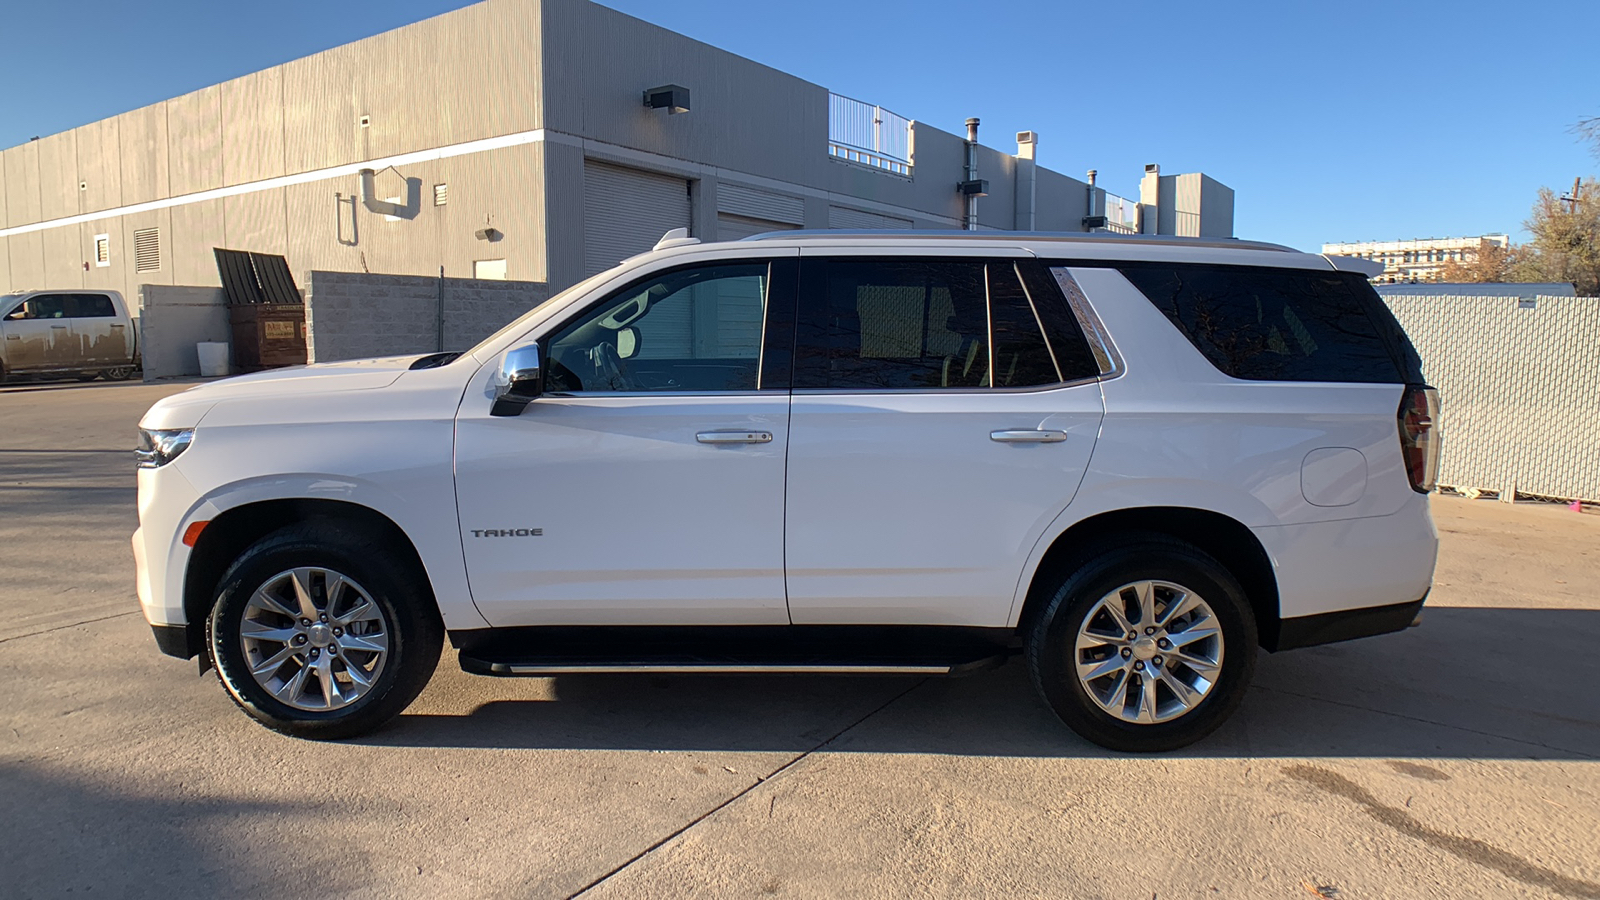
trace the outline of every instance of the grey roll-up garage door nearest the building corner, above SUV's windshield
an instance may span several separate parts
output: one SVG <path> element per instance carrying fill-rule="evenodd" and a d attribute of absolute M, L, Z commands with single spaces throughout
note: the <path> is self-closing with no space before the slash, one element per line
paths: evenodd
<path fill-rule="evenodd" d="M 690 227 L 688 181 L 584 160 L 584 274 L 645 253 L 675 227 Z"/>

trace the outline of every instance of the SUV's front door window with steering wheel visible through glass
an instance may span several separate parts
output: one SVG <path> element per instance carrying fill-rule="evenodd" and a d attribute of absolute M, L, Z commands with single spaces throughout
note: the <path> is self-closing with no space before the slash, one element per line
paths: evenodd
<path fill-rule="evenodd" d="M 546 391 L 754 391 L 766 287 L 752 263 L 624 288 L 549 340 Z"/>

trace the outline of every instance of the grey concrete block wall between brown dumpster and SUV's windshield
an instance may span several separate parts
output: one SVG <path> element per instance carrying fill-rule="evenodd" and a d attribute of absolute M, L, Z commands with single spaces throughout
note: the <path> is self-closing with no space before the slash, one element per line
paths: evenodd
<path fill-rule="evenodd" d="M 549 296 L 544 282 L 312 272 L 306 288 L 310 362 L 464 351 Z"/>

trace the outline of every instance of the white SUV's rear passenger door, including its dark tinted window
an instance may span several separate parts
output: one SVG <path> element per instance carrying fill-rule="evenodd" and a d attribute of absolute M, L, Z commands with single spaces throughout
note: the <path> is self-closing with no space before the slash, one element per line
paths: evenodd
<path fill-rule="evenodd" d="M 802 261 L 786 538 L 795 625 L 1006 625 L 1104 412 L 1070 307 L 1032 266 Z"/>

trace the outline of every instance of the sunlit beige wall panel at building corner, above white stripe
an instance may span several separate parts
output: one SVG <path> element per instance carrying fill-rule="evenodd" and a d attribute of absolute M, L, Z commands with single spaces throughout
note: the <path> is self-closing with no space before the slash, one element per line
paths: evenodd
<path fill-rule="evenodd" d="M 490 130 L 515 135 L 544 128 L 544 16 L 536 0 L 488 0 Z"/>

